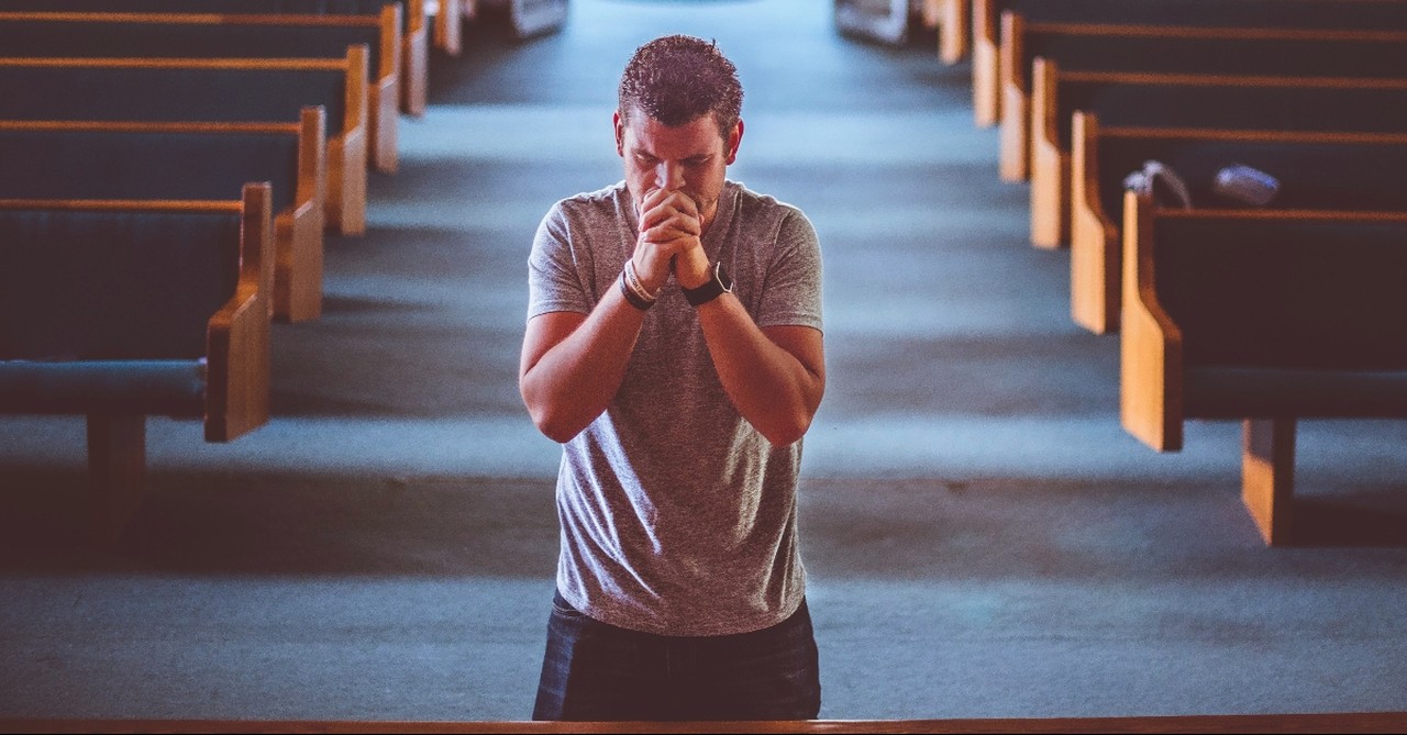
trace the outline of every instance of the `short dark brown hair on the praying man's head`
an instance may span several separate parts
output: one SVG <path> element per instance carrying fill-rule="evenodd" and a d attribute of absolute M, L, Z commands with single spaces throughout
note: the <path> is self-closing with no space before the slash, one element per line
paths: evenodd
<path fill-rule="evenodd" d="M 666 35 L 635 49 L 620 76 L 618 104 L 625 119 L 639 107 L 671 128 L 713 112 L 727 141 L 743 112 L 743 84 L 716 41 Z"/>

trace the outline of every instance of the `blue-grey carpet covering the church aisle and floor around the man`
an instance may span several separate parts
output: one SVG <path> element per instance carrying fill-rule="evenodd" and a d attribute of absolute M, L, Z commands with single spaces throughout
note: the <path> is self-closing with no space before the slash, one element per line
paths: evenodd
<path fill-rule="evenodd" d="M 1235 424 L 1164 455 L 1120 429 L 1117 337 L 1071 323 L 965 65 L 823 0 L 573 0 L 560 35 L 433 59 L 325 316 L 274 329 L 273 420 L 152 419 L 127 545 L 84 544 L 82 419 L 0 419 L 0 715 L 529 715 L 559 448 L 515 385 L 528 243 L 619 178 L 616 74 L 674 31 L 747 84 L 732 176 L 822 236 L 822 717 L 1407 710 L 1407 423 L 1303 423 L 1303 535 L 1265 548 Z"/>

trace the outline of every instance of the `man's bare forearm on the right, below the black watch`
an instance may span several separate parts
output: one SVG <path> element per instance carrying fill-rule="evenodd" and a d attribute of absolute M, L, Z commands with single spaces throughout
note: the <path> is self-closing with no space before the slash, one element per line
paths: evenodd
<path fill-rule="evenodd" d="M 737 412 L 774 445 L 801 438 L 826 388 L 819 332 L 815 346 L 788 344 L 803 360 L 768 337 L 733 295 L 704 304 L 698 316 L 713 368 Z"/>

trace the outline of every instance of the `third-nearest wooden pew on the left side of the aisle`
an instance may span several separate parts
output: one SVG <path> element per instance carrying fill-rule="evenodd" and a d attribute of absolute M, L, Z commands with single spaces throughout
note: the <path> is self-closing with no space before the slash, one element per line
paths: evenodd
<path fill-rule="evenodd" d="M 260 124 L 326 110 L 325 223 L 366 232 L 366 48 L 322 59 L 0 58 L 0 119 Z"/>

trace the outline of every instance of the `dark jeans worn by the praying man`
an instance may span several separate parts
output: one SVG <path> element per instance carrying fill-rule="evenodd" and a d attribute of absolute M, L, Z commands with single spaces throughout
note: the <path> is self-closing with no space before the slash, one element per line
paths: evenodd
<path fill-rule="evenodd" d="M 806 601 L 770 628 L 670 637 L 552 601 L 533 720 L 815 720 L 816 638 Z"/>

